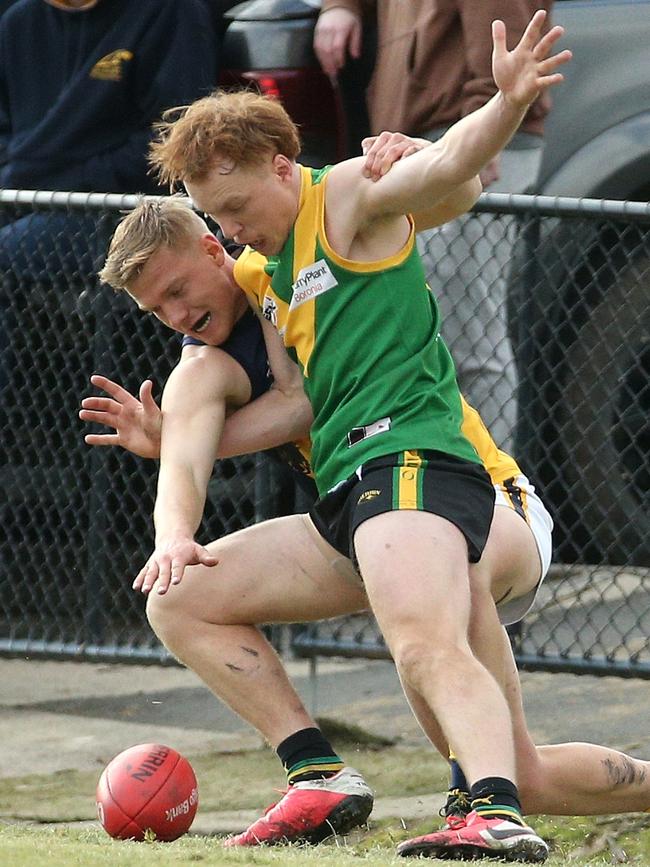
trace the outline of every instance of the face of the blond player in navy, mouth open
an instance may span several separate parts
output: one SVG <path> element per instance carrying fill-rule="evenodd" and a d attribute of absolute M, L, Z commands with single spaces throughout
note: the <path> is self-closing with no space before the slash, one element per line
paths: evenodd
<path fill-rule="evenodd" d="M 174 331 L 218 346 L 247 306 L 223 260 L 223 248 L 210 235 L 181 250 L 161 247 L 132 281 L 129 295 Z"/>

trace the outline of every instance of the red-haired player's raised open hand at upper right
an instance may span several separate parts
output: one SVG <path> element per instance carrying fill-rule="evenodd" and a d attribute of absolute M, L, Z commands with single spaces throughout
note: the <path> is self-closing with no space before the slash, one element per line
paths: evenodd
<path fill-rule="evenodd" d="M 555 26 L 542 36 L 546 12 L 538 10 L 531 18 L 519 44 L 506 48 L 506 26 L 503 21 L 492 22 L 492 74 L 504 98 L 518 108 L 534 102 L 542 91 L 564 79 L 556 70 L 571 59 L 568 49 L 549 56 L 552 47 L 561 38 L 564 28 Z"/>

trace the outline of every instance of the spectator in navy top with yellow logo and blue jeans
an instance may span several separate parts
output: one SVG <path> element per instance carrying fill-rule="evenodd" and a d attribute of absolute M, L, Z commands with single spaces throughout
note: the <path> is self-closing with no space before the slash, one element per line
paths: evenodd
<path fill-rule="evenodd" d="M 217 56 L 205 0 L 18 0 L 0 20 L 0 186 L 160 192 L 152 124 L 215 86 Z M 0 211 L 0 226 L 2 389 L 20 295 L 94 274 L 97 226 L 25 207 Z"/>

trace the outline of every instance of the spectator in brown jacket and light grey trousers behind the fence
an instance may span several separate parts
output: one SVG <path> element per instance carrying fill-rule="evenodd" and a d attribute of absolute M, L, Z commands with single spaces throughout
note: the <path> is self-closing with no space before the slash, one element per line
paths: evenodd
<path fill-rule="evenodd" d="M 314 48 L 330 75 L 357 56 L 362 12 L 371 0 L 324 0 Z M 374 0 L 376 3 L 376 0 Z M 490 24 L 505 21 L 516 45 L 536 9 L 552 0 L 384 0 L 377 6 L 377 57 L 368 89 L 373 133 L 401 130 L 432 141 L 494 95 Z M 548 25 L 547 25 L 548 26 Z M 542 156 L 544 95 L 508 147 L 481 173 L 484 189 L 522 193 L 537 178 Z M 418 246 L 438 297 L 443 334 L 461 391 L 506 451 L 517 421 L 517 374 L 506 315 L 514 219 L 463 216 L 421 233 Z"/>

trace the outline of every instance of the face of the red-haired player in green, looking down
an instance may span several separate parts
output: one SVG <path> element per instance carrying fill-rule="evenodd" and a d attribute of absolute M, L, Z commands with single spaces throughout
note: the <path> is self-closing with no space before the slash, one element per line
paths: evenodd
<path fill-rule="evenodd" d="M 284 247 L 298 212 L 296 171 L 286 157 L 276 156 L 253 168 L 217 165 L 204 180 L 185 187 L 227 238 L 272 256 Z"/>

